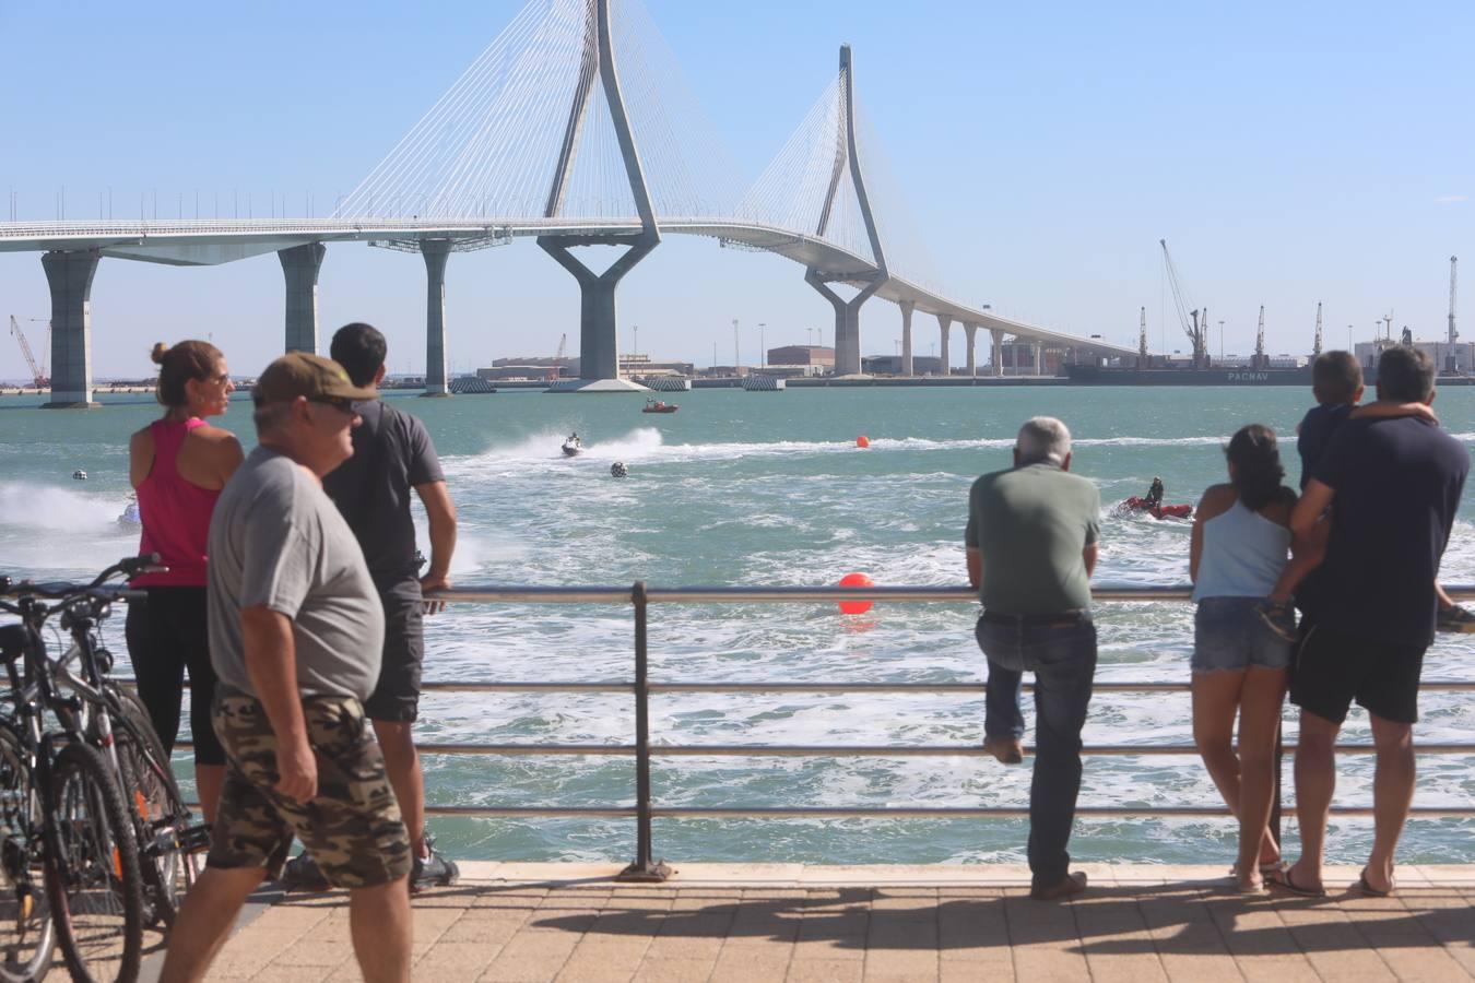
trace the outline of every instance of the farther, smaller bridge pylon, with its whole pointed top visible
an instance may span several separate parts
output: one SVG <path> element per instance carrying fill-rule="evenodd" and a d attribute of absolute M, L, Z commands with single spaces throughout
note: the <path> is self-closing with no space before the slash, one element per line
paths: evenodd
<path fill-rule="evenodd" d="M 835 168 L 830 171 L 829 190 L 825 193 L 825 208 L 820 211 L 816 234 L 823 239 L 829 228 L 835 192 L 839 189 L 841 175 L 848 168 L 850 180 L 856 186 L 856 197 L 860 202 L 860 215 L 866 223 L 866 237 L 870 240 L 870 255 L 876 271 L 861 277 L 854 273 L 830 274 L 810 267 L 804 273 L 804 281 L 819 290 L 820 296 L 835 308 L 835 374 L 854 376 L 860 373 L 860 305 L 869 301 L 870 295 L 879 290 L 891 274 L 886 273 L 886 253 L 881 246 L 881 234 L 876 231 L 876 217 L 870 211 L 870 196 L 866 193 L 866 178 L 860 167 L 860 153 L 856 149 L 856 85 L 850 44 L 839 46 L 839 75 L 841 119 L 835 134 Z M 860 293 L 847 301 L 830 289 L 829 284 L 835 281 L 856 284 L 860 287 Z"/>

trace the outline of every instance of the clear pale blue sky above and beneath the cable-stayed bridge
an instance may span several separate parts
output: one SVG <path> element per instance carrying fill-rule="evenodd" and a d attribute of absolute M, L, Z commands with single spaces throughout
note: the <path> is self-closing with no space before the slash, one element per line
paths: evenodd
<path fill-rule="evenodd" d="M 1366 340 L 1392 314 L 1443 337 L 1448 259 L 1475 281 L 1475 4 L 643 0 L 751 181 L 833 80 L 850 43 L 857 99 L 928 240 L 932 280 L 1000 314 L 1181 349 L 1159 239 L 1214 321 L 1211 352 Z M 512 21 L 521 3 L 0 0 L 0 221 L 161 218 L 249 195 L 319 214 L 351 190 Z M 268 205 L 268 202 L 276 202 Z M 224 208 L 224 205 L 223 205 Z M 832 339 L 804 270 L 668 236 L 620 287 L 621 349 L 698 365 Z M 1471 293 L 1471 290 L 1466 290 Z M 391 371 L 425 364 L 425 270 L 330 245 L 322 346 L 342 323 L 389 337 Z M 0 253 L 0 320 L 46 318 L 37 253 Z M 273 255 L 176 268 L 103 259 L 91 293 L 97 377 L 150 373 L 155 340 L 211 337 L 233 371 L 282 349 Z M 447 270 L 453 371 L 578 346 L 572 279 L 531 240 Z M 1475 339 L 1475 307 L 1462 318 Z M 634 329 L 639 327 L 636 333 Z M 41 348 L 44 324 L 22 321 Z M 914 349 L 935 351 L 917 315 Z M 864 354 L 892 354 L 897 308 L 861 314 Z M 963 360 L 954 326 L 951 358 Z M 981 357 L 982 361 L 982 357 Z M 28 373 L 0 340 L 0 379 Z"/>

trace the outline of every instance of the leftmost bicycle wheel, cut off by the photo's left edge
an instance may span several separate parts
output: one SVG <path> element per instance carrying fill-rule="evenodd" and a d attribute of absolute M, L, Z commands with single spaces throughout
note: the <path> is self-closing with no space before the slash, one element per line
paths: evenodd
<path fill-rule="evenodd" d="M 31 787 L 25 746 L 0 725 L 0 980 L 46 976 L 56 927 L 46 893 L 41 797 Z"/>

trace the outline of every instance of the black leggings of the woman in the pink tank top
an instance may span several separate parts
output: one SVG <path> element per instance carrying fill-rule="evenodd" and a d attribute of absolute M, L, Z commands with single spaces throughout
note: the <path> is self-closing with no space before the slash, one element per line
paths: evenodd
<path fill-rule="evenodd" d="M 204 587 L 150 587 L 145 604 L 128 604 L 128 659 L 139 679 L 139 697 L 164 750 L 174 753 L 180 730 L 184 669 L 189 668 L 189 728 L 196 765 L 224 765 L 209 707 L 215 669 L 209 665 L 209 626 Z"/>

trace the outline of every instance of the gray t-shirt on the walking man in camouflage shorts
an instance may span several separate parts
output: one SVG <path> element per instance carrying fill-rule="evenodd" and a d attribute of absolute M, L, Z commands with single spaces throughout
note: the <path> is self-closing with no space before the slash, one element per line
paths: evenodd
<path fill-rule="evenodd" d="M 384 607 L 348 523 L 292 458 L 258 447 L 209 520 L 209 660 L 227 691 L 257 696 L 240 612 L 292 619 L 302 696 L 369 699 L 379 679 Z"/>

